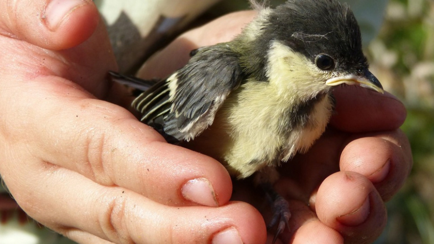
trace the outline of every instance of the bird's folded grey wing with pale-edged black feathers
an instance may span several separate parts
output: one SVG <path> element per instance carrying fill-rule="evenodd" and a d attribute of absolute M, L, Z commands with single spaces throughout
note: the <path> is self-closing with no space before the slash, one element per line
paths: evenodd
<path fill-rule="evenodd" d="M 242 76 L 238 55 L 229 45 L 202 47 L 187 65 L 143 92 L 132 105 L 167 141 L 188 141 L 212 124 Z"/>

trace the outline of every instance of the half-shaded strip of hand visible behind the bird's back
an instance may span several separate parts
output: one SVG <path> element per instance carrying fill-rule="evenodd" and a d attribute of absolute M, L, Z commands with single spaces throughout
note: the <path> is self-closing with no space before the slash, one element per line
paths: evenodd
<path fill-rule="evenodd" d="M 137 72 L 137 76 L 162 78 L 169 75 L 187 63 L 191 50 L 232 40 L 255 16 L 255 11 L 230 13 L 182 34 L 149 58 Z"/>

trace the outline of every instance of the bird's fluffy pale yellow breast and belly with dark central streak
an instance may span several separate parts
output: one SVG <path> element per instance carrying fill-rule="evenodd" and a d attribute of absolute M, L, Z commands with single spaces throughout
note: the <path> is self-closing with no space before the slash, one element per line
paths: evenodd
<path fill-rule="evenodd" d="M 329 121 L 331 96 L 298 104 L 264 94 L 263 86 L 234 91 L 213 124 L 188 147 L 222 161 L 239 178 L 307 151 Z"/>

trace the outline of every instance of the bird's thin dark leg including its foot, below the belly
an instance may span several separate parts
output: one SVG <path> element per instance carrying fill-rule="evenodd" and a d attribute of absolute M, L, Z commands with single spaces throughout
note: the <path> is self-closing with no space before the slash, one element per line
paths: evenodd
<path fill-rule="evenodd" d="M 266 167 L 266 170 L 257 172 L 255 176 L 257 185 L 264 192 L 272 208 L 273 216 L 270 223 L 267 225 L 267 229 L 271 229 L 277 225 L 276 234 L 272 242 L 273 244 L 276 242 L 277 237 L 285 230 L 285 227 L 287 229 L 289 228 L 288 221 L 291 218 L 288 201 L 280 196 L 273 188 L 272 182 L 277 181 L 278 178 L 278 173 L 274 167 Z"/>

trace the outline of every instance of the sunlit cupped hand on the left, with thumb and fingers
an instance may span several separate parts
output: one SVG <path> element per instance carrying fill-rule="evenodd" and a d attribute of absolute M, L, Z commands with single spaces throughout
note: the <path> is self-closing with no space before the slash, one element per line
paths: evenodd
<path fill-rule="evenodd" d="M 92 1 L 0 9 L 0 174 L 32 218 L 80 243 L 265 242 L 219 162 L 104 101 L 116 63 Z"/>

